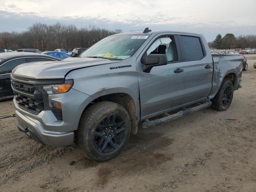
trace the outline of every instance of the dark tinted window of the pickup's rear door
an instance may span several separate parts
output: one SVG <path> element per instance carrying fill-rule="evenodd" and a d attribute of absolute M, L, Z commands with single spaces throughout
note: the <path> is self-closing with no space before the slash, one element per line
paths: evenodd
<path fill-rule="evenodd" d="M 178 36 L 182 60 L 198 60 L 204 56 L 202 45 L 198 37 Z"/>

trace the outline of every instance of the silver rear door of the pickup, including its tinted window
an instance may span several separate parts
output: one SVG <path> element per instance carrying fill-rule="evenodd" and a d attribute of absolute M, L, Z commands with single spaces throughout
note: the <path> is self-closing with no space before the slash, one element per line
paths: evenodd
<path fill-rule="evenodd" d="M 212 89 L 212 55 L 206 55 L 200 36 L 179 35 L 185 70 L 184 103 L 206 98 Z M 206 42 L 205 42 L 206 43 Z"/>

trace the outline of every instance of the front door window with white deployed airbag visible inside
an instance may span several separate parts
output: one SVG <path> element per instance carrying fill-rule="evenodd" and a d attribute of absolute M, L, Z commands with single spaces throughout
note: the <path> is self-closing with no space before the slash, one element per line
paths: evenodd
<path fill-rule="evenodd" d="M 174 42 L 170 37 L 158 38 L 147 50 L 147 55 L 149 54 L 166 54 L 167 61 L 176 60 L 176 52 L 174 51 Z"/>

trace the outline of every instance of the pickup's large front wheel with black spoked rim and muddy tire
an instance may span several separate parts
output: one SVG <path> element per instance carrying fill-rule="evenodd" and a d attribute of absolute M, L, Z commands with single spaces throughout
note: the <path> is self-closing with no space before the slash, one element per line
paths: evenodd
<path fill-rule="evenodd" d="M 130 137 L 128 112 L 114 102 L 98 102 L 80 118 L 76 143 L 91 160 L 105 161 L 117 156 Z"/>

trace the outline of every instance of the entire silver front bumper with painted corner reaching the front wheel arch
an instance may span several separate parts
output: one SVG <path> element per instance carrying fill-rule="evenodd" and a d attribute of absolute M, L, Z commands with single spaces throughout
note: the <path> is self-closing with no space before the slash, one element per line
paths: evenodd
<path fill-rule="evenodd" d="M 21 108 L 14 98 L 18 129 L 37 142 L 49 146 L 73 144 L 74 130 L 78 128 L 80 116 L 94 98 L 71 89 L 64 94 L 50 95 L 49 100 L 62 104 L 63 120 L 56 119 L 51 110 L 42 110 L 39 114 L 32 114 Z"/>

